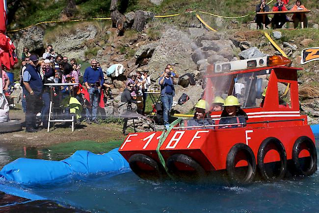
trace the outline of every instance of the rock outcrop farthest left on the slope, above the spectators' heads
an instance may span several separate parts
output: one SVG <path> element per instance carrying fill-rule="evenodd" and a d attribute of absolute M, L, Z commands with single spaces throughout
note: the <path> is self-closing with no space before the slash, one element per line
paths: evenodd
<path fill-rule="evenodd" d="M 43 38 L 45 29 L 39 26 L 32 26 L 14 34 L 11 39 L 17 49 L 20 58 L 23 48 L 28 47 L 30 52 L 42 53 L 44 51 Z M 40 54 L 40 56 L 42 56 Z"/>

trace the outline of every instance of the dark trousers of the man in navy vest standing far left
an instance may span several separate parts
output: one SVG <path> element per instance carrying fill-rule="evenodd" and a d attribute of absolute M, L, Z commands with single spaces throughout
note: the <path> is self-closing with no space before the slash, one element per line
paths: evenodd
<path fill-rule="evenodd" d="M 36 114 L 38 113 L 38 106 L 40 103 L 40 95 L 26 94 L 27 111 L 26 111 L 26 128 L 35 128 Z"/>

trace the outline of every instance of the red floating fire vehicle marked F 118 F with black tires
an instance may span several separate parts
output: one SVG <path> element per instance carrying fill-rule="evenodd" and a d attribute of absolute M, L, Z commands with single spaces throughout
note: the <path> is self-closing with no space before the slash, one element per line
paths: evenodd
<path fill-rule="evenodd" d="M 167 132 L 128 135 L 119 152 L 138 176 L 191 179 L 223 171 L 234 184 L 249 184 L 257 171 L 268 181 L 288 173 L 310 176 L 317 170 L 315 137 L 300 115 L 297 71 L 282 56 L 214 64 L 207 71 L 205 100 L 234 95 L 247 114 L 232 128 L 219 124 L 222 111 L 211 112 L 211 125 Z M 210 106 L 211 108 L 211 106 Z"/>

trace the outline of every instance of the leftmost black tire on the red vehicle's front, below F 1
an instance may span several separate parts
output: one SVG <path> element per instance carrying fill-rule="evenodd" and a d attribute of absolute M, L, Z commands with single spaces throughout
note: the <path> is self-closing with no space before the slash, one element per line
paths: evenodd
<path fill-rule="evenodd" d="M 133 172 L 145 180 L 161 180 L 163 179 L 164 172 L 153 158 L 144 154 L 134 154 L 129 159 L 129 164 Z M 144 165 L 149 169 L 142 169 L 140 166 Z"/>

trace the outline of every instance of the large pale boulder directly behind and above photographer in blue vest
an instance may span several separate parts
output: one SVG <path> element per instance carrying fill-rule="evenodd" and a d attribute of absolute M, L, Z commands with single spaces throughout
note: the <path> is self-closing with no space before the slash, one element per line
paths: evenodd
<path fill-rule="evenodd" d="M 166 29 L 148 63 L 151 78 L 157 80 L 167 64 L 172 64 L 179 75 L 196 70 L 196 64 L 191 57 L 192 46 L 196 45 L 185 32 Z"/>

